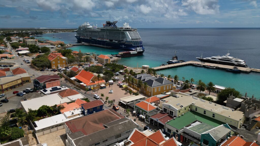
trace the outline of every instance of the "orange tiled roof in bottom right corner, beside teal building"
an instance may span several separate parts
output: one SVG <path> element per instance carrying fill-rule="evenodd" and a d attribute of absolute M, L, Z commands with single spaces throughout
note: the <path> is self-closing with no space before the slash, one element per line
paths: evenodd
<path fill-rule="evenodd" d="M 221 144 L 221 146 L 258 146 L 258 144 L 255 142 L 246 142 L 239 136 L 232 136 L 229 140 Z"/>

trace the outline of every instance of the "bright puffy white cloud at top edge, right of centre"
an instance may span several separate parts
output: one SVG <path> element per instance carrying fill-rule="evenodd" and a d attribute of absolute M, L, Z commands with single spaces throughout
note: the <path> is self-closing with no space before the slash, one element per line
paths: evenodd
<path fill-rule="evenodd" d="M 182 5 L 188 10 L 193 10 L 197 14 L 217 14 L 219 13 L 218 0 L 182 0 Z"/>

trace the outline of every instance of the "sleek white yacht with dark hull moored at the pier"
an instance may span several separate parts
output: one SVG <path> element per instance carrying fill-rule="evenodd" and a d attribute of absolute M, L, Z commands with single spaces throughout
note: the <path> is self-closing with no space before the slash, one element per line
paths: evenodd
<path fill-rule="evenodd" d="M 216 63 L 216 64 L 224 64 L 224 65 L 232 65 L 232 66 L 238 66 L 238 67 L 247 67 L 244 60 L 230 57 L 229 52 L 228 54 L 224 56 L 213 56 L 213 57 L 207 57 L 207 58 L 199 58 L 201 62 L 208 62 L 208 63 Z"/>

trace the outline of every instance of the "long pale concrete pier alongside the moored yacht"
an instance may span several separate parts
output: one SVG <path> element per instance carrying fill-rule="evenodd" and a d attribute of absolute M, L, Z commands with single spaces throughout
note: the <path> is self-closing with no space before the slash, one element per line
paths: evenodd
<path fill-rule="evenodd" d="M 170 69 L 170 68 L 175 68 L 175 67 L 181 67 L 181 66 L 186 66 L 186 65 L 192 65 L 193 63 L 201 64 L 201 65 L 210 65 L 212 67 L 216 67 L 218 69 L 232 69 L 234 66 L 231 65 L 223 65 L 223 64 L 215 64 L 215 63 L 201 63 L 199 61 L 187 61 L 187 62 L 182 62 L 182 63 L 175 63 L 175 64 L 167 64 L 159 67 L 154 67 L 153 69 L 155 70 L 164 70 L 164 69 Z M 253 68 L 244 68 L 244 67 L 238 67 L 239 70 L 242 72 L 259 72 L 260 69 L 253 69 Z"/>

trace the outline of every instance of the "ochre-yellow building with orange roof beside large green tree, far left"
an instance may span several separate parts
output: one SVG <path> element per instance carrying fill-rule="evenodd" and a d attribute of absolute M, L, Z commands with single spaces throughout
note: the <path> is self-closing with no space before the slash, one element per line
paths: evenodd
<path fill-rule="evenodd" d="M 51 68 L 65 67 L 67 64 L 67 57 L 61 55 L 61 53 L 50 53 L 48 59 L 51 64 Z"/>

